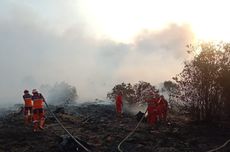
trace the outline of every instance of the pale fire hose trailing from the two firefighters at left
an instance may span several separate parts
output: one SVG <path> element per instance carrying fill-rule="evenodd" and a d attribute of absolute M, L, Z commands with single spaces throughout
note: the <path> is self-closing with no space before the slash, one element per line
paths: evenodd
<path fill-rule="evenodd" d="M 78 140 L 80 140 L 80 138 L 78 138 L 77 136 L 73 136 L 64 126 L 63 124 L 58 120 L 58 118 L 55 116 L 55 114 L 50 110 L 48 104 L 45 102 L 46 107 L 49 111 L 49 113 L 55 118 L 55 120 L 58 122 L 58 124 L 62 127 L 62 129 L 73 139 L 74 142 L 76 142 L 79 146 L 81 146 L 85 151 L 90 152 L 90 150 L 88 148 L 86 148 L 84 145 L 82 145 Z M 78 140 L 77 140 L 77 139 Z"/>

